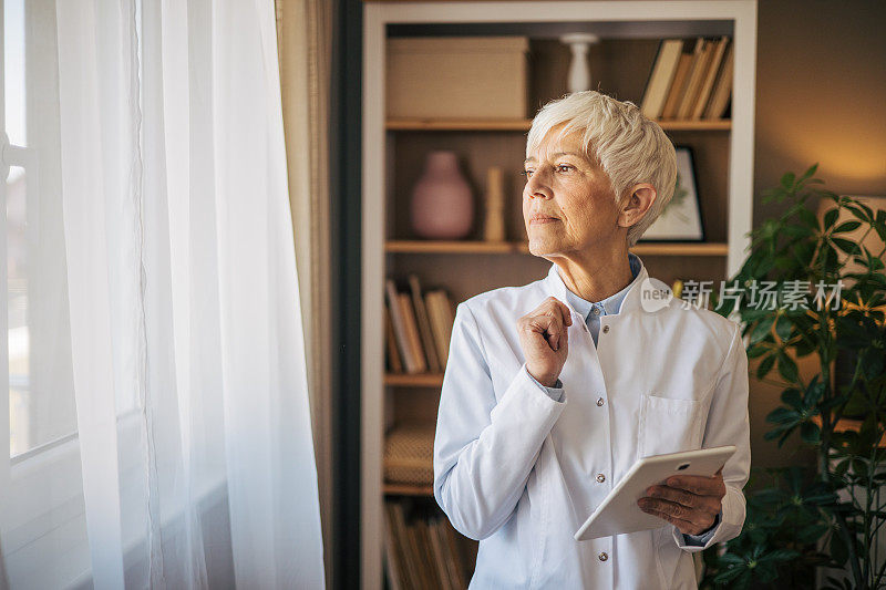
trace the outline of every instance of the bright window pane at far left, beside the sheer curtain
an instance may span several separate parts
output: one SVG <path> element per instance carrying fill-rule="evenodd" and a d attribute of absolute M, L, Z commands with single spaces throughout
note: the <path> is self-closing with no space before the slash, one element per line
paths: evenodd
<path fill-rule="evenodd" d="M 70 438 L 76 431 L 70 370 L 68 300 L 64 281 L 64 234 L 61 198 L 41 193 L 40 155 L 55 141 L 41 142 L 48 131 L 44 113 L 33 112 L 29 94 L 48 83 L 51 72 L 34 66 L 24 0 L 3 2 L 3 169 L 6 216 L 0 224 L 6 249 L 6 320 L 9 371 L 9 456 L 22 457 Z M 45 94 L 44 94 L 45 96 Z M 45 105 L 48 103 L 40 103 Z M 50 117 L 51 118 L 51 117 Z M 51 135 L 44 134 L 49 138 Z M 52 163 L 42 170 L 54 174 Z M 40 218 L 38 218 L 38 215 Z M 40 222 L 45 217 L 47 222 Z"/>

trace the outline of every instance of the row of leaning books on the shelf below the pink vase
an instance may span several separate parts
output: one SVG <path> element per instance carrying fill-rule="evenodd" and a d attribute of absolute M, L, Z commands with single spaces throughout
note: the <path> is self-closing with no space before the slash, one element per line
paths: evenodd
<path fill-rule="evenodd" d="M 409 293 L 385 281 L 384 323 L 391 373 L 442 373 L 449 360 L 454 311 L 442 289 L 422 294 L 419 278 L 409 276 Z"/>

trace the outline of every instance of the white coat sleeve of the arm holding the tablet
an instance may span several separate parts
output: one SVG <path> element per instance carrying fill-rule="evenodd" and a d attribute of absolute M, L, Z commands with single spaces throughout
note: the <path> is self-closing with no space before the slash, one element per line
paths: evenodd
<path fill-rule="evenodd" d="M 687 551 L 702 551 L 728 541 L 736 537 L 744 525 L 742 489 L 751 473 L 751 426 L 748 418 L 748 353 L 738 324 L 712 392 L 702 444 L 704 448 L 724 445 L 735 445 L 735 454 L 723 466 L 727 495 L 722 500 L 720 524 L 707 542 L 698 546 L 687 545 L 680 530 L 672 527 L 677 545 Z"/>

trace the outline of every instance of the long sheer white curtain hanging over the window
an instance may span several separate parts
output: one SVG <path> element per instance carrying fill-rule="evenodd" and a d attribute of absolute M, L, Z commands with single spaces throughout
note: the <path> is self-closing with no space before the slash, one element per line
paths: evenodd
<path fill-rule="evenodd" d="M 59 0 L 52 18 L 55 46 L 38 51 L 58 52 L 44 116 L 58 122 L 80 581 L 321 588 L 274 2 Z M 23 556 L 7 556 L 13 588 L 30 586 Z"/>

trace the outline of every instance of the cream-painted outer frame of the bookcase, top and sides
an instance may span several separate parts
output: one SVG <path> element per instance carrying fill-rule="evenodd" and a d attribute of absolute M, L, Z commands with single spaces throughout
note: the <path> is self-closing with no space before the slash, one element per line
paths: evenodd
<path fill-rule="evenodd" d="M 756 0 L 583 0 L 477 2 L 367 2 L 363 4 L 362 203 L 361 217 L 361 587 L 382 588 L 384 485 L 384 279 L 385 154 L 390 134 L 385 117 L 384 60 L 389 24 L 556 23 L 568 14 L 583 22 L 641 22 L 660 27 L 682 21 L 729 21 L 735 48 L 734 83 L 728 143 L 727 276 L 734 276 L 749 245 L 753 210 L 754 89 L 756 68 Z M 660 38 L 667 38 L 663 32 Z M 516 125 L 516 123 L 513 123 Z M 435 123 L 435 125 L 440 125 Z M 472 123 L 472 130 L 476 125 Z M 525 123 L 521 122 L 521 125 Z M 450 126 L 450 128 L 452 128 Z M 666 127 L 667 128 L 667 127 Z M 396 131 L 396 130 L 391 130 Z M 410 131 L 410 130 L 404 130 Z M 421 128 L 414 131 L 433 131 Z M 453 130 L 459 131 L 459 130 Z M 497 130 L 509 131 L 509 130 Z M 524 131 L 521 126 L 513 131 Z M 725 131 L 725 130 L 724 130 Z M 720 255 L 718 255 L 720 256 Z"/>

